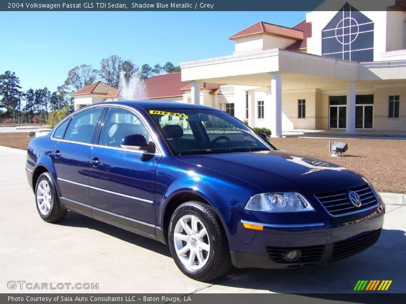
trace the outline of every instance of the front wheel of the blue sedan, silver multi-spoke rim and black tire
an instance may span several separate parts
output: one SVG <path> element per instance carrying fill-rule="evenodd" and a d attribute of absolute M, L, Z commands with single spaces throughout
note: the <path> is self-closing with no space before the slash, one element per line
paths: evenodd
<path fill-rule="evenodd" d="M 172 257 L 186 276 L 208 282 L 231 269 L 227 237 L 209 205 L 197 201 L 181 204 L 171 217 L 168 231 Z"/>

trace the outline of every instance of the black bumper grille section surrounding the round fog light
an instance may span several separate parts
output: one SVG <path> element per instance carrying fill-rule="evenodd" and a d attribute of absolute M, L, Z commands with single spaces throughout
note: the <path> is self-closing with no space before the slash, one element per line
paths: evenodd
<path fill-rule="evenodd" d="M 270 259 L 277 263 L 315 263 L 319 262 L 324 253 L 324 245 L 307 247 L 271 247 L 266 246 Z M 301 256 L 293 261 L 285 259 L 285 255 L 291 250 L 300 250 Z"/>

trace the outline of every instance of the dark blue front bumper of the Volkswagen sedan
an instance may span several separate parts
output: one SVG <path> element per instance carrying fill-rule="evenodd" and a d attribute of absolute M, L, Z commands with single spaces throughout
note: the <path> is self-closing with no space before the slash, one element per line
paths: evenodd
<path fill-rule="evenodd" d="M 324 264 L 359 253 L 380 236 L 385 207 L 363 214 L 334 218 L 315 225 L 264 224 L 263 231 L 246 229 L 242 222 L 229 236 L 231 260 L 236 268 L 283 269 Z M 243 220 L 244 222 L 244 220 Z M 300 250 L 300 257 L 286 254 Z"/>

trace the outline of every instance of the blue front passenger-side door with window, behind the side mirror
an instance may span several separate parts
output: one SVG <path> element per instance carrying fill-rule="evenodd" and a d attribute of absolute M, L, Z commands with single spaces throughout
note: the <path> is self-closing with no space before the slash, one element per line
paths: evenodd
<path fill-rule="evenodd" d="M 110 107 L 98 145 L 90 153 L 90 204 L 114 215 L 155 224 L 155 169 L 161 156 L 121 148 L 121 139 L 132 134 L 142 134 L 151 141 L 135 113 Z"/>

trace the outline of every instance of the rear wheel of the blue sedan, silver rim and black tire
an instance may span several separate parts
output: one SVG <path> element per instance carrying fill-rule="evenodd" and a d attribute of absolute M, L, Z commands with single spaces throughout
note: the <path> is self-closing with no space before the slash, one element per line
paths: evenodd
<path fill-rule="evenodd" d="M 48 172 L 42 173 L 37 180 L 35 201 L 38 214 L 46 222 L 60 221 L 66 215 L 66 209 L 60 205 L 55 182 Z"/>

